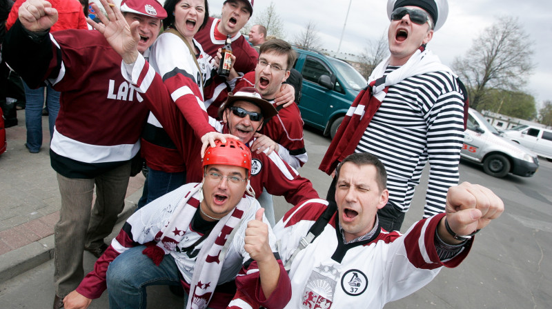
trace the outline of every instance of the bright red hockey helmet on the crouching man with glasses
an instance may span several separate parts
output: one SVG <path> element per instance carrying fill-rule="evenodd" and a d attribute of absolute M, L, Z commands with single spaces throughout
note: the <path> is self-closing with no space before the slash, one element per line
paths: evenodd
<path fill-rule="evenodd" d="M 247 177 L 251 175 L 251 150 L 237 139 L 226 139 L 226 143 L 215 141 L 215 147 L 205 150 L 202 166 L 222 164 L 225 166 L 239 166 L 247 170 Z"/>

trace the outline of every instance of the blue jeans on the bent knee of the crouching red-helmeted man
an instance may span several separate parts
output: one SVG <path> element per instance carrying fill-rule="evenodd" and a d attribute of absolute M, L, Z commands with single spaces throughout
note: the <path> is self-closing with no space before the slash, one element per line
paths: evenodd
<path fill-rule="evenodd" d="M 159 266 L 156 266 L 142 254 L 145 248 L 130 248 L 109 264 L 106 274 L 109 308 L 146 308 L 146 286 L 181 286 L 175 259 L 165 255 Z"/>

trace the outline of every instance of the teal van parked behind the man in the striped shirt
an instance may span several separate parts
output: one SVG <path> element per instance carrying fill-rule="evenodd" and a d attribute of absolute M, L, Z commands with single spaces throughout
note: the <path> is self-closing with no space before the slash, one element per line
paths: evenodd
<path fill-rule="evenodd" d="M 315 50 L 294 48 L 294 68 L 303 76 L 299 103 L 303 120 L 333 138 L 358 92 L 366 86 L 366 79 L 345 61 Z"/>

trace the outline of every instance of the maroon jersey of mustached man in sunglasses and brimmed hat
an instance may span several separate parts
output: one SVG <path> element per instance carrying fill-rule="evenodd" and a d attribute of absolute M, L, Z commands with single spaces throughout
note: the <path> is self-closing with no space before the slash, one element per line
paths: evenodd
<path fill-rule="evenodd" d="M 135 85 L 141 95 L 148 100 L 148 108 L 159 119 L 170 139 L 174 141 L 186 163 L 186 182 L 200 182 L 203 179 L 201 168 L 201 140 L 204 133 L 197 134 L 193 126 L 186 121 L 183 110 L 186 106 L 172 103 L 170 96 L 164 90 L 163 81 L 159 74 L 139 56 L 134 65 L 122 64 L 122 72 L 130 83 Z M 203 121 L 203 118 L 201 118 Z M 207 124 L 210 130 L 228 133 L 228 126 L 210 118 Z M 215 127 L 215 129 L 213 129 Z M 208 129 L 207 128 L 207 129 Z M 250 141 L 251 143 L 252 141 Z M 295 205 L 305 199 L 318 198 L 313 184 L 301 177 L 297 170 L 290 167 L 277 153 L 252 153 L 252 168 L 250 185 L 255 195 L 259 196 L 266 188 L 271 195 L 284 196 L 288 203 Z"/>

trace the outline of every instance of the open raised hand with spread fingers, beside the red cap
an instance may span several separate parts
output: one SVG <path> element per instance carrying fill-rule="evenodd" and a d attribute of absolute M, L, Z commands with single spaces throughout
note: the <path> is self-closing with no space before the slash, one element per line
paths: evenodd
<path fill-rule="evenodd" d="M 102 23 L 96 23 L 92 19 L 87 18 L 86 21 L 90 23 L 90 26 L 97 29 L 103 37 L 106 38 L 109 45 L 115 50 L 125 63 L 134 63 L 138 58 L 138 41 L 140 40 L 140 34 L 138 34 L 139 21 L 133 21 L 130 26 L 126 23 L 126 19 L 123 14 L 115 6 L 112 0 L 100 0 L 101 5 L 106 10 L 108 17 L 101 14 L 96 3 L 92 3 L 92 8 L 96 12 L 100 12 L 96 16 Z"/>

